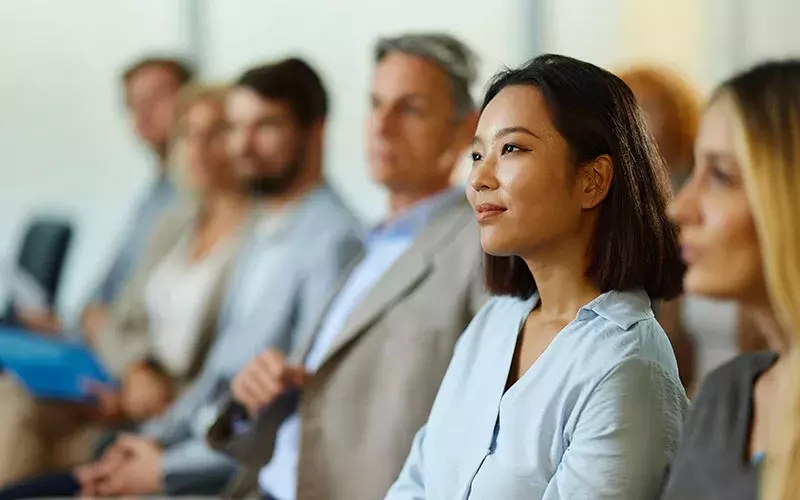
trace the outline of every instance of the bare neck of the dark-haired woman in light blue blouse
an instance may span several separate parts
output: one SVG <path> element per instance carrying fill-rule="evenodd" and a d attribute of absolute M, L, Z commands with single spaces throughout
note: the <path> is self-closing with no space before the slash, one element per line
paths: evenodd
<path fill-rule="evenodd" d="M 600 295 L 586 277 L 586 244 L 581 239 L 523 257 L 536 281 L 540 314 L 572 321 L 581 307 Z"/>

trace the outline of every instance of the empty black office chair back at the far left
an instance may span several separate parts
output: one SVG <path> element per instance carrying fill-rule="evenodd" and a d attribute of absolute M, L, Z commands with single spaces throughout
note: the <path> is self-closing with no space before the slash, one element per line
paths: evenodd
<path fill-rule="evenodd" d="M 71 243 L 72 224 L 46 217 L 33 219 L 22 238 L 16 267 L 36 280 L 51 308 L 56 302 Z M 6 306 L 2 323 L 18 324 L 13 299 Z"/>

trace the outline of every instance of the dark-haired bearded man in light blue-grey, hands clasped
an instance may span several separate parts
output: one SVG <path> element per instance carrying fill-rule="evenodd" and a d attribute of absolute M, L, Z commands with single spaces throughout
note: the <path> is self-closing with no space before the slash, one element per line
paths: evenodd
<path fill-rule="evenodd" d="M 263 349 L 288 352 L 361 251 L 355 217 L 322 175 L 327 107 L 322 82 L 299 59 L 242 75 L 227 100 L 228 146 L 262 210 L 201 374 L 163 416 L 121 436 L 97 462 L 0 498 L 215 494 L 225 484 L 234 462 L 205 434 L 231 379 Z"/>

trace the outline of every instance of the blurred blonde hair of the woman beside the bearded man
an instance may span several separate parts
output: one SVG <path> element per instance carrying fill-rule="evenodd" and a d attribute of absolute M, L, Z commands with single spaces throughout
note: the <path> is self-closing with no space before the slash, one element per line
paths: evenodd
<path fill-rule="evenodd" d="M 175 185 L 184 195 L 189 197 L 193 196 L 194 193 L 191 188 L 191 182 L 188 180 L 186 154 L 184 151 L 186 115 L 189 110 L 201 103 L 212 103 L 222 107 L 224 110 L 228 90 L 229 87 L 225 85 L 191 84 L 181 90 L 181 95 L 178 98 L 175 116 L 170 128 L 167 161 L 169 172 Z"/>

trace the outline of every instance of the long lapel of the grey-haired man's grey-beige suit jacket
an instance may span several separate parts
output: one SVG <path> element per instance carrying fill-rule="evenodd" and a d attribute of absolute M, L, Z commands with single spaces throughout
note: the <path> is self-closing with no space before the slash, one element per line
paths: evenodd
<path fill-rule="evenodd" d="M 462 211 L 465 199 L 458 198 L 443 208 L 443 212 L 416 238 L 411 247 L 381 276 L 345 322 L 344 328 L 328 349 L 320 368 L 359 335 L 372 326 L 388 309 L 408 295 L 433 269 L 433 257 L 442 242 L 447 241 Z"/>

